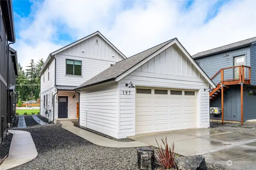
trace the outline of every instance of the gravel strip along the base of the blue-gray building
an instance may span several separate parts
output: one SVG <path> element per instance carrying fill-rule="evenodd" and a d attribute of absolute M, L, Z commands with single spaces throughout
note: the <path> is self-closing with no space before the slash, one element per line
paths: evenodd
<path fill-rule="evenodd" d="M 217 130 L 225 130 L 230 132 L 240 132 L 240 133 L 251 133 L 256 134 L 256 123 L 244 122 L 244 125 L 241 123 L 225 123 L 222 125 L 221 122 L 210 122 L 210 128 Z"/>

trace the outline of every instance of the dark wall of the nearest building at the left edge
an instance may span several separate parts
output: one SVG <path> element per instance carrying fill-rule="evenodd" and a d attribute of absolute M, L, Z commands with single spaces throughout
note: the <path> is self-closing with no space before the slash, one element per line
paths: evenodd
<path fill-rule="evenodd" d="M 1 7 L 0 7 L 1 8 Z M 2 8 L 1 8 L 2 9 Z M 1 15 L 0 15 L 1 16 Z M 6 132 L 7 124 L 7 54 L 8 54 L 8 45 L 7 34 L 4 25 L 4 18 L 0 17 L 0 139 L 3 138 Z"/>

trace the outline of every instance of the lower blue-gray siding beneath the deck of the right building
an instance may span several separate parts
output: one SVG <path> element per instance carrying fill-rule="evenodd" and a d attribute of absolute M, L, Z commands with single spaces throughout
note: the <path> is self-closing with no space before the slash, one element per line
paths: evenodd
<path fill-rule="evenodd" d="M 247 88 L 244 86 L 244 120 L 247 120 Z M 241 87 L 232 85 L 224 92 L 224 120 L 241 121 Z M 221 96 L 214 102 L 210 102 L 210 107 L 221 109 Z M 210 119 L 221 119 L 220 115 L 210 114 Z"/>

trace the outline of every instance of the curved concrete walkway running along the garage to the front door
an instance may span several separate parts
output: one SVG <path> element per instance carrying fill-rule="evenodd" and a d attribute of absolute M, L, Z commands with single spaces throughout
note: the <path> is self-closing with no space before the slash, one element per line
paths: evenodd
<path fill-rule="evenodd" d="M 142 147 L 142 146 L 149 146 L 148 144 L 134 141 L 134 142 L 118 142 L 115 140 L 111 140 L 109 138 L 105 138 L 98 134 L 88 132 L 87 130 L 83 130 L 78 127 L 74 127 L 72 122 L 60 122 L 62 124 L 62 128 L 92 142 L 93 144 L 105 147 L 112 147 L 112 148 L 135 148 L 135 147 Z"/>

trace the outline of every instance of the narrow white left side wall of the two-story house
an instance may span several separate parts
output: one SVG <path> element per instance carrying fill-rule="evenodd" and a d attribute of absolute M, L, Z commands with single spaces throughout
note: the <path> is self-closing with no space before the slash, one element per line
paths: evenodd
<path fill-rule="evenodd" d="M 49 67 L 49 69 L 48 69 Z M 40 115 L 42 117 L 46 117 L 45 111 L 46 109 L 50 108 L 50 114 L 47 115 L 47 119 L 49 119 L 50 116 L 50 121 L 53 120 L 53 106 L 52 106 L 52 94 L 55 93 L 55 88 L 54 88 L 54 76 L 55 76 L 55 62 L 54 59 L 50 61 L 48 67 L 45 68 L 44 72 L 41 75 L 41 88 L 40 88 Z M 49 72 L 49 79 L 48 79 L 48 72 Z M 47 104 L 45 104 L 44 107 L 44 96 L 48 95 L 47 99 Z M 46 100 L 46 97 L 45 97 Z M 45 101 L 46 103 L 46 101 Z"/>

